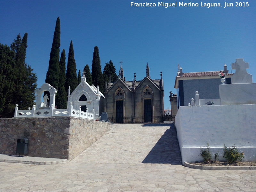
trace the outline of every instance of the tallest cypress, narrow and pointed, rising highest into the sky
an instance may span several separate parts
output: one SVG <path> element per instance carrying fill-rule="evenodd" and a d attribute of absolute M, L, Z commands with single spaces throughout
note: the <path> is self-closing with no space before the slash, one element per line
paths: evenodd
<path fill-rule="evenodd" d="M 55 89 L 58 89 L 59 84 L 59 59 L 60 59 L 60 17 L 56 20 L 52 50 L 50 53 L 49 68 L 46 73 L 45 83 L 52 85 Z"/>

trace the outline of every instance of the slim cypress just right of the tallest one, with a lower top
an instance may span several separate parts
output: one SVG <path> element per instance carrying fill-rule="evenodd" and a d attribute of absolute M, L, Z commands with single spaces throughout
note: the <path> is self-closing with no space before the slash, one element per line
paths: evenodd
<path fill-rule="evenodd" d="M 57 92 L 57 108 L 65 109 L 67 108 L 67 93 L 65 90 L 65 81 L 66 81 L 66 53 L 65 50 L 62 50 L 60 56 L 60 77 L 59 77 L 59 88 Z"/>

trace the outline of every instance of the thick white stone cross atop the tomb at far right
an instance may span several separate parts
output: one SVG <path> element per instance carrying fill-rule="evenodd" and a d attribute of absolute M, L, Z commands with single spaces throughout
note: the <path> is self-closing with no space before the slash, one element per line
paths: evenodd
<path fill-rule="evenodd" d="M 252 83 L 252 75 L 249 74 L 246 69 L 249 68 L 249 63 L 244 62 L 244 59 L 236 59 L 235 63 L 231 64 L 232 69 L 236 69 L 236 72 L 231 76 L 231 83 Z"/>

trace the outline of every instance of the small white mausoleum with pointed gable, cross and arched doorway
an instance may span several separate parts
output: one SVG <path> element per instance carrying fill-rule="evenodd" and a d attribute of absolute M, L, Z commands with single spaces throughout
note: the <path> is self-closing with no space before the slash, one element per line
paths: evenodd
<path fill-rule="evenodd" d="M 90 86 L 86 82 L 86 77 L 81 77 L 81 83 L 76 87 L 76 89 L 70 94 L 68 94 L 68 106 L 73 103 L 73 108 L 78 110 L 81 106 L 82 111 L 89 111 L 94 109 L 95 117 L 100 116 L 101 112 L 104 112 L 105 98 L 104 95 L 99 91 L 99 85 L 96 88 L 93 84 Z"/>

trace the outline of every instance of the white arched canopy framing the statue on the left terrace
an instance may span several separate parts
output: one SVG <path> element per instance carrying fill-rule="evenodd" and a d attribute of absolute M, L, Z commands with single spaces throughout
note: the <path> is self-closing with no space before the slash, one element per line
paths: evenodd
<path fill-rule="evenodd" d="M 41 87 L 36 89 L 36 109 L 39 109 L 41 107 L 41 99 L 42 94 L 48 91 L 50 93 L 50 106 L 53 104 L 53 107 L 55 107 L 55 96 L 57 93 L 57 89 L 55 89 L 53 86 L 51 86 L 48 83 L 44 83 Z"/>

